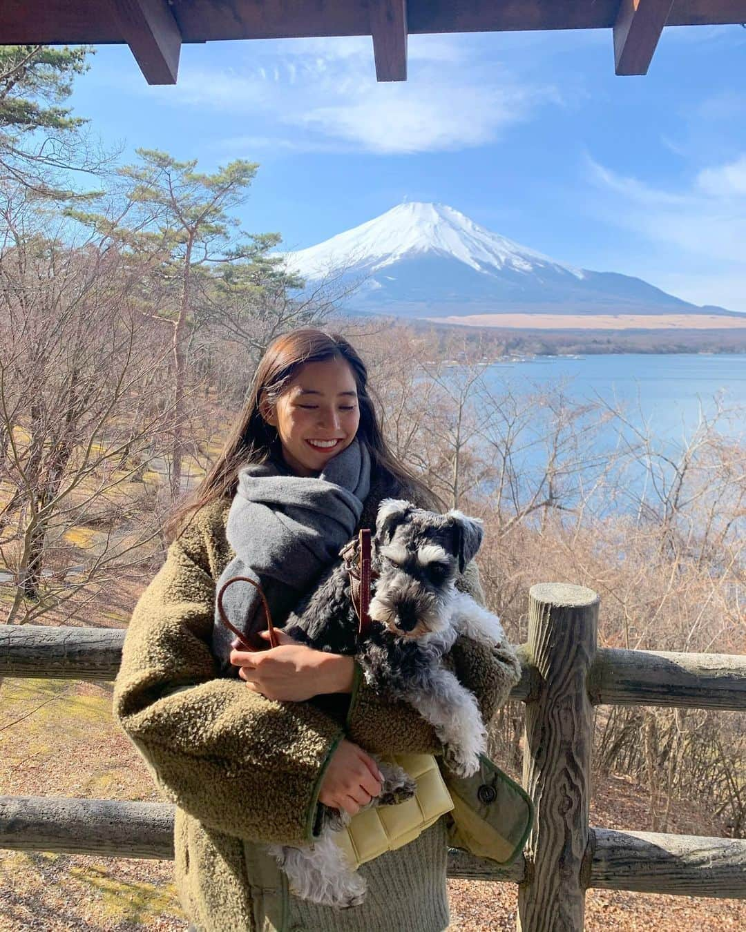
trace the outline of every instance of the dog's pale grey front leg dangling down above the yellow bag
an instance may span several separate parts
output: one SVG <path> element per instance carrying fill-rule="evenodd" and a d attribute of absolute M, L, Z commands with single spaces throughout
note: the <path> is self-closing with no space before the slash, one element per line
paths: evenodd
<path fill-rule="evenodd" d="M 479 755 L 487 749 L 487 730 L 474 693 L 449 670 L 436 667 L 427 689 L 406 691 L 404 698 L 435 728 L 449 768 L 459 776 L 476 774 Z"/>

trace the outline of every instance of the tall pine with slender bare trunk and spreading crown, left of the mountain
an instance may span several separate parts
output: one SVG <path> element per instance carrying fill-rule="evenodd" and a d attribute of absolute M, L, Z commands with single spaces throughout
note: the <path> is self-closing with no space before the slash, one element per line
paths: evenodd
<path fill-rule="evenodd" d="M 107 214 L 67 210 L 144 269 L 140 300 L 146 313 L 173 328 L 173 431 L 171 493 L 181 492 L 186 455 L 186 405 L 190 337 L 199 326 L 198 303 L 220 281 L 228 291 L 256 293 L 299 284 L 269 252 L 278 234 L 248 234 L 231 215 L 248 197 L 255 162 L 237 159 L 214 174 L 197 171 L 197 159 L 177 161 L 155 149 L 137 149 L 140 162 L 118 170 L 125 203 Z M 234 267 L 231 277 L 225 270 Z M 236 281 L 238 280 L 238 281 Z M 197 299 L 200 299 L 199 302 Z M 152 308 L 156 307 L 155 313 Z"/>

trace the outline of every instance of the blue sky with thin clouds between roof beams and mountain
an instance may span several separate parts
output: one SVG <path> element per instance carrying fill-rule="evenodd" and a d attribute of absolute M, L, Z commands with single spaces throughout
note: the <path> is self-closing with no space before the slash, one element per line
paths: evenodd
<path fill-rule="evenodd" d="M 648 75 L 609 31 L 409 37 L 378 84 L 369 37 L 182 48 L 148 87 L 99 47 L 72 103 L 105 145 L 260 168 L 242 208 L 300 249 L 433 200 L 575 266 L 746 311 L 746 29 L 672 27 Z"/>

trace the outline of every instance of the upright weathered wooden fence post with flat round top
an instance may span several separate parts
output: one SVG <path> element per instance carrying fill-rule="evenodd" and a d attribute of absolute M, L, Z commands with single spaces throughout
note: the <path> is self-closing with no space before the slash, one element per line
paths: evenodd
<path fill-rule="evenodd" d="M 536 819 L 518 886 L 522 932 L 583 929 L 593 741 L 587 677 L 598 612 L 599 596 L 584 586 L 539 583 L 529 590 L 528 662 L 536 686 L 526 703 L 523 786 Z"/>

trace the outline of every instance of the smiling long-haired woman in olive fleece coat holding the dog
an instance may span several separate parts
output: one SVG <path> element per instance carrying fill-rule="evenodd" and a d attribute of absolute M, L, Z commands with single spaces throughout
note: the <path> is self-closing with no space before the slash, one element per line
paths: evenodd
<path fill-rule="evenodd" d="M 319 480 L 331 481 L 349 512 L 334 512 L 332 539 L 373 527 L 384 498 L 436 504 L 388 451 L 366 383 L 365 364 L 342 337 L 311 329 L 278 337 L 223 453 L 174 516 L 177 536 L 132 614 L 114 714 L 176 804 L 176 887 L 200 932 L 438 932 L 449 925 L 444 819 L 363 865 L 366 902 L 346 911 L 290 896 L 263 852 L 263 843 L 310 843 L 320 802 L 351 815 L 365 805 L 380 789 L 371 753 L 442 753 L 432 726 L 366 685 L 351 657 L 286 636 L 269 651 L 237 651 L 214 630 L 215 582 L 239 558 L 226 524 L 241 468 L 249 467 L 260 490 L 264 475 L 306 477 L 311 495 Z M 261 508 L 256 514 L 266 514 Z M 297 526 L 299 535 L 317 530 Z M 231 539 L 245 544 L 250 565 L 267 560 L 267 572 L 257 575 L 283 624 L 313 573 L 301 573 L 299 583 L 285 550 L 293 540 L 275 539 L 258 523 L 253 531 L 234 529 Z M 312 546 L 319 567 L 338 550 L 318 533 Z M 483 602 L 474 565 L 457 585 Z M 466 637 L 448 660 L 490 720 L 516 681 L 515 663 Z M 306 701 L 317 695 L 325 696 L 325 711 Z"/>

